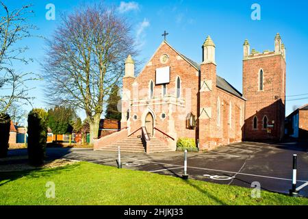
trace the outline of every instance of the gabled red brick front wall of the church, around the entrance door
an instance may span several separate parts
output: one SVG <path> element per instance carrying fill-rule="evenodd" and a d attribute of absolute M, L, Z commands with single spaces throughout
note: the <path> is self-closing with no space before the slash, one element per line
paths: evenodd
<path fill-rule="evenodd" d="M 166 64 L 160 62 L 160 57 L 164 54 L 168 54 L 169 60 Z M 175 96 L 175 79 L 177 76 L 181 79 L 181 98 L 185 99 L 183 106 L 176 105 L 176 99 L 172 99 L 173 103 L 176 104 L 156 104 L 157 102 L 162 103 L 162 85 L 155 86 L 155 70 L 156 68 L 162 68 L 170 66 L 170 83 L 167 84 L 167 96 Z M 154 98 L 145 103 L 144 99 L 148 99 L 149 95 L 149 81 L 152 80 L 154 83 Z M 168 44 L 162 44 L 153 58 L 150 60 L 150 64 L 146 65 L 142 73 L 136 78 L 134 83 L 138 83 L 138 94 L 132 93 L 136 99 L 133 103 L 134 107 L 131 107 L 131 129 L 135 131 L 142 126 L 142 117 L 144 112 L 149 107 L 154 112 L 155 127 L 168 133 L 168 119 L 170 117 L 175 120 L 175 129 L 177 131 L 177 137 L 188 137 L 195 138 L 196 130 L 185 128 L 185 118 L 192 112 L 197 114 L 197 93 L 198 93 L 198 70 L 191 66 L 188 62 L 179 57 L 179 55 L 168 46 Z M 134 90 L 134 88 L 133 88 Z M 139 99 L 139 100 L 138 100 Z M 156 102 L 156 103 L 155 103 Z M 166 118 L 162 118 L 162 113 L 166 114 Z M 137 115 L 137 120 L 133 120 L 133 115 Z M 156 134 L 157 133 L 157 134 Z M 162 136 L 162 134 L 155 131 L 155 137 Z M 175 136 L 172 136 L 175 137 Z"/>

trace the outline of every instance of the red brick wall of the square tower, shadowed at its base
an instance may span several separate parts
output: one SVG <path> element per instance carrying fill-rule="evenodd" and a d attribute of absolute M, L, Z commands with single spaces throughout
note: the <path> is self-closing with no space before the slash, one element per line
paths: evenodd
<path fill-rule="evenodd" d="M 259 70 L 264 71 L 264 90 L 259 90 Z M 285 118 L 285 60 L 281 55 L 266 55 L 243 61 L 243 95 L 246 101 L 246 140 L 281 140 Z M 253 118 L 257 116 L 257 129 Z M 268 117 L 271 133 L 263 129 L 263 118 Z"/>

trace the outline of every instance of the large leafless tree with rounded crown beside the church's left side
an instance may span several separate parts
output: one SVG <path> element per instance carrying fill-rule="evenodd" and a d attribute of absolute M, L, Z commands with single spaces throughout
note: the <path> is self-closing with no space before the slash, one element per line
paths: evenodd
<path fill-rule="evenodd" d="M 135 55 L 131 26 L 103 4 L 62 16 L 47 42 L 43 64 L 49 103 L 86 112 L 90 141 L 98 137 L 105 100 L 124 74 L 124 60 Z"/>

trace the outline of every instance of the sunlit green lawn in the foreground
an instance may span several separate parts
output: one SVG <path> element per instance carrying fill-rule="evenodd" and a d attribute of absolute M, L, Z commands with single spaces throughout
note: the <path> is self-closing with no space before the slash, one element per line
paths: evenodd
<path fill-rule="evenodd" d="M 46 198 L 47 181 L 55 198 Z M 0 205 L 308 205 L 292 198 L 203 181 L 81 162 L 57 169 L 0 173 Z"/>

